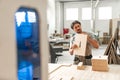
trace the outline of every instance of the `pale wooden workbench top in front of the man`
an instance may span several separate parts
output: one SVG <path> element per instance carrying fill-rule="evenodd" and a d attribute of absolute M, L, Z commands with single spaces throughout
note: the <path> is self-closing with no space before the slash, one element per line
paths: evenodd
<path fill-rule="evenodd" d="M 48 80 L 120 80 L 120 65 L 108 65 L 109 71 L 92 71 L 92 66 L 78 70 L 73 64 L 48 64 Z"/>

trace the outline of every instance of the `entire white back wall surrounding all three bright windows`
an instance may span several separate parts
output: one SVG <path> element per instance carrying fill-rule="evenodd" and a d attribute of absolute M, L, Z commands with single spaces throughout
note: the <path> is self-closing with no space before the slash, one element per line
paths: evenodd
<path fill-rule="evenodd" d="M 113 1 L 100 1 L 98 4 L 98 7 L 103 7 L 103 6 L 111 6 L 112 7 L 112 18 L 118 18 L 120 17 L 120 0 L 113 0 Z M 82 23 L 82 28 L 84 31 L 91 31 L 91 23 L 90 20 L 83 21 L 81 19 L 81 9 L 83 7 L 91 7 L 91 2 L 90 1 L 85 1 L 85 2 L 68 2 L 64 3 L 64 27 L 70 28 L 70 24 L 72 21 L 66 21 L 66 8 L 79 8 L 79 21 Z M 96 9 L 98 11 L 98 8 Z M 103 36 L 103 32 L 108 32 L 109 33 L 109 20 L 98 20 L 98 13 L 96 12 L 96 21 L 95 21 L 95 31 L 100 30 L 100 36 Z M 71 28 L 70 28 L 71 30 Z M 72 30 L 71 30 L 72 33 Z"/>

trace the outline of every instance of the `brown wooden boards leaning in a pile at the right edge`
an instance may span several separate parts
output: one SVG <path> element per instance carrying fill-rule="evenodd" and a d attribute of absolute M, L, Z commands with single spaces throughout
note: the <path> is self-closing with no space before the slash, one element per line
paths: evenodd
<path fill-rule="evenodd" d="M 119 30 L 120 30 L 120 21 L 117 23 L 117 28 L 115 31 L 114 36 L 111 37 L 110 42 L 107 46 L 107 49 L 104 55 L 108 55 L 108 63 L 109 64 L 120 64 L 120 45 L 118 44 L 119 41 Z M 119 50 L 119 52 L 117 52 Z"/>

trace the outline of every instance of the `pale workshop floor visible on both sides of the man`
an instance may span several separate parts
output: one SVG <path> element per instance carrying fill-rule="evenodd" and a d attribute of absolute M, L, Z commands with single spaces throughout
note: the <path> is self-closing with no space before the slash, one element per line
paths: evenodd
<path fill-rule="evenodd" d="M 99 56 L 103 55 L 105 50 L 107 48 L 107 45 L 100 45 L 99 49 L 92 49 L 92 54 L 93 56 Z M 62 54 L 63 56 L 58 57 L 57 64 L 63 64 L 63 63 L 68 63 L 72 64 L 74 56 L 71 56 L 68 51 L 64 51 L 62 53 L 57 53 L 57 54 Z"/>

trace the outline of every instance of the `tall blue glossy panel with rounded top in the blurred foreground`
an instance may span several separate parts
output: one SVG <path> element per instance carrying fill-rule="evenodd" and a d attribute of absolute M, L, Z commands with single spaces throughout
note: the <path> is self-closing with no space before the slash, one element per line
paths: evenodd
<path fill-rule="evenodd" d="M 36 22 L 29 22 L 28 11 L 35 13 Z M 25 21 L 16 21 L 16 44 L 17 44 L 17 73 L 18 80 L 33 80 L 34 69 L 40 67 L 40 59 L 32 58 L 33 53 L 39 54 L 39 25 L 38 15 L 34 9 L 21 7 L 17 12 L 25 12 Z M 17 19 L 17 18 L 15 18 Z M 39 74 L 40 75 L 40 74 Z"/>

